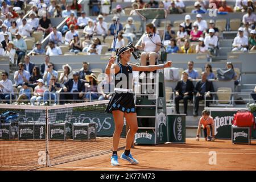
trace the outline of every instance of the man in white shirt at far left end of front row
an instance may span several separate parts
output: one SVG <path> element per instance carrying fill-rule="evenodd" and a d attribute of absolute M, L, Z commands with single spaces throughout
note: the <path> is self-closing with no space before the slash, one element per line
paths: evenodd
<path fill-rule="evenodd" d="M 0 100 L 5 100 L 10 104 L 10 100 L 14 100 L 13 82 L 9 80 L 7 72 L 2 73 L 2 80 L 0 81 Z"/>

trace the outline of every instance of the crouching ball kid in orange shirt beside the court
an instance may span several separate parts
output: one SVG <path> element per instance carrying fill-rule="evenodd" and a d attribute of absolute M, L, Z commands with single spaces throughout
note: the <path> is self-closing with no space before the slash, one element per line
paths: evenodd
<path fill-rule="evenodd" d="M 202 116 L 199 119 L 199 123 L 198 123 L 198 127 L 197 127 L 197 134 L 196 134 L 197 141 L 199 141 L 202 125 L 203 125 L 203 129 L 204 129 L 205 141 L 214 141 L 214 133 L 215 133 L 214 120 L 210 116 L 210 112 L 208 110 L 203 110 Z M 210 136 L 211 131 L 212 131 L 212 137 Z"/>

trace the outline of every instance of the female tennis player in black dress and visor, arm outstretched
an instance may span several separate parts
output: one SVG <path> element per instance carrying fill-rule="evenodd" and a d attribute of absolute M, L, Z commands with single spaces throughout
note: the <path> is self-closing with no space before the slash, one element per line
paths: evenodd
<path fill-rule="evenodd" d="M 108 76 L 114 75 L 114 94 L 109 101 L 106 111 L 113 114 L 115 131 L 113 134 L 113 154 L 111 157 L 112 166 L 119 166 L 118 163 L 118 144 L 123 128 L 123 118 L 129 125 L 129 131 L 126 135 L 126 148 L 122 153 L 121 159 L 126 160 L 131 164 L 138 164 L 138 160 L 134 159 L 130 154 L 131 144 L 134 140 L 134 135 L 138 130 L 137 114 L 134 104 L 133 96 L 133 71 L 155 71 L 156 69 L 163 69 L 171 67 L 172 61 L 167 61 L 165 64 L 138 66 L 135 64 L 127 64 L 130 61 L 131 52 L 133 48 L 127 46 L 117 49 L 117 56 L 119 56 L 119 63 L 114 63 L 115 57 L 111 56 L 109 63 L 106 66 L 105 73 Z M 110 73 L 112 73 L 110 75 Z"/>

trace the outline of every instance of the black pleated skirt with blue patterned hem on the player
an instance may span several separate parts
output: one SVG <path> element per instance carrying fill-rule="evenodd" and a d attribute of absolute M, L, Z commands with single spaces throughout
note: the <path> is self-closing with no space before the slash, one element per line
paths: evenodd
<path fill-rule="evenodd" d="M 114 93 L 106 108 L 107 113 L 113 110 L 121 110 L 126 113 L 135 113 L 135 104 L 133 93 Z"/>

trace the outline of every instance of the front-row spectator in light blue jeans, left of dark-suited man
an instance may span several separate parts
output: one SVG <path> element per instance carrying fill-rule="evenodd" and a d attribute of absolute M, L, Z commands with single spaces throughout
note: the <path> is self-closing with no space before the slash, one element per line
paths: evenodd
<path fill-rule="evenodd" d="M 57 82 L 57 78 L 55 76 L 51 77 L 51 80 L 49 82 L 49 86 L 46 90 L 44 90 L 43 94 L 43 100 L 44 103 L 47 101 L 49 102 L 49 99 L 54 100 L 54 103 L 57 104 L 57 91 L 61 89 L 61 84 Z"/>

